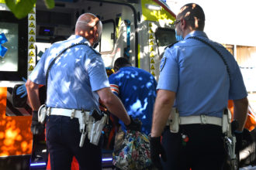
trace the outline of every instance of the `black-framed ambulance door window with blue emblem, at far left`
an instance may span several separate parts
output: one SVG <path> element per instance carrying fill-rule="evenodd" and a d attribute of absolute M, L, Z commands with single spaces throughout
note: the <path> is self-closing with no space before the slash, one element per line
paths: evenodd
<path fill-rule="evenodd" d="M 0 10 L 0 21 L 0 86 L 12 87 L 2 81 L 19 81 L 27 76 L 28 19 L 16 19 L 12 12 Z"/>

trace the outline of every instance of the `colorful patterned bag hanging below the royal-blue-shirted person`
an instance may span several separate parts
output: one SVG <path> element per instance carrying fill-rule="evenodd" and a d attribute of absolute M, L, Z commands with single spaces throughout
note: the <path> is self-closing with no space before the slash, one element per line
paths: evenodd
<path fill-rule="evenodd" d="M 124 138 L 116 141 L 113 165 L 122 170 L 144 169 L 151 165 L 150 142 L 146 134 L 140 131 L 127 131 Z"/>

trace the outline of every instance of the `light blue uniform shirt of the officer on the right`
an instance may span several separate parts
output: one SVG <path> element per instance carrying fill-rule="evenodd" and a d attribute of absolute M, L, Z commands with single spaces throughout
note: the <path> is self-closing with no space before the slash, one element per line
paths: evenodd
<path fill-rule="evenodd" d="M 223 54 L 230 77 L 223 59 L 203 42 L 188 39 L 190 36 L 204 39 Z M 191 32 L 183 41 L 165 50 L 157 89 L 176 93 L 174 107 L 178 108 L 180 116 L 207 114 L 222 117 L 227 100 L 247 97 L 234 56 L 200 31 Z"/>

